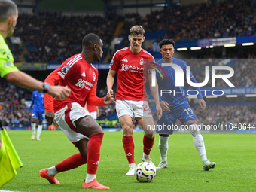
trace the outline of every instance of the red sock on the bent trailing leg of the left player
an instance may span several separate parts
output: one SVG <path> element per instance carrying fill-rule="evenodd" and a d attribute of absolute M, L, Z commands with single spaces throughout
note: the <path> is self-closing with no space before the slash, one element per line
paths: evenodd
<path fill-rule="evenodd" d="M 84 165 L 85 163 L 87 163 L 87 157 L 83 157 L 80 153 L 78 153 L 73 154 L 66 160 L 62 160 L 62 162 L 56 164 L 55 168 L 57 172 L 65 172 L 70 169 L 75 169 L 78 166 Z"/>

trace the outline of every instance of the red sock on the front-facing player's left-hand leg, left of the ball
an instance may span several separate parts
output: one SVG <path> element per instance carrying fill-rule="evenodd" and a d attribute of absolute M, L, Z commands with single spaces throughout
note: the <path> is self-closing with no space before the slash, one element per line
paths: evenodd
<path fill-rule="evenodd" d="M 135 163 L 133 136 L 123 136 L 123 148 L 129 164 Z"/>

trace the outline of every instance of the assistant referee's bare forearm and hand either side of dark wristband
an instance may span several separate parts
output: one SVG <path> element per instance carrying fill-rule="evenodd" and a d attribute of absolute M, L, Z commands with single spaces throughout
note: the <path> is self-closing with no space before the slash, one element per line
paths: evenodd
<path fill-rule="evenodd" d="M 44 83 L 42 81 L 38 81 L 37 79 L 32 78 L 30 75 L 27 75 L 21 71 L 8 73 L 5 75 L 5 78 L 19 87 L 38 90 L 40 92 L 43 92 L 44 90 Z M 48 93 L 52 96 L 56 96 L 57 99 L 65 99 L 69 96 L 70 90 L 68 87 L 51 86 Z"/>

